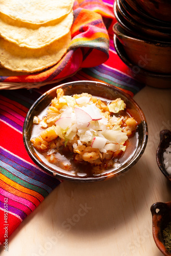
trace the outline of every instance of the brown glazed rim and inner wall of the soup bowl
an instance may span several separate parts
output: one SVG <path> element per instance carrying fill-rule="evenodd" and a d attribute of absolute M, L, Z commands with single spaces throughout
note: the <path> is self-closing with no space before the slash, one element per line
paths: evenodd
<path fill-rule="evenodd" d="M 92 94 L 97 97 L 99 97 L 101 94 L 102 95 L 106 94 L 108 96 L 104 96 L 104 98 L 107 97 L 108 99 L 110 98 L 112 99 L 113 97 L 118 97 L 119 95 L 120 98 L 126 100 L 126 102 L 130 104 L 131 108 L 133 108 L 134 106 L 135 111 L 138 112 L 138 116 L 139 116 L 138 118 L 141 121 L 139 123 L 138 131 L 137 131 L 139 133 L 139 136 L 137 137 L 136 150 L 134 154 L 129 157 L 129 160 L 125 159 L 123 162 L 123 165 L 121 165 L 121 167 L 119 167 L 116 170 L 113 170 L 111 168 L 108 173 L 101 174 L 100 176 L 97 176 L 97 177 L 86 177 L 86 178 L 81 176 L 80 177 L 72 176 L 70 174 L 67 175 L 65 173 L 62 173 L 61 170 L 57 170 L 57 172 L 55 172 L 54 169 L 50 168 L 44 162 L 42 162 L 37 157 L 35 149 L 33 148 L 30 142 L 31 131 L 32 131 L 32 121 L 34 116 L 38 115 L 41 112 L 40 110 L 41 108 L 45 109 L 46 106 L 50 104 L 52 98 L 54 98 L 54 95 L 56 96 L 55 93 L 57 88 L 62 88 L 68 95 L 80 93 L 77 91 L 78 89 L 79 91 L 81 90 L 81 92 L 88 92 L 88 93 L 93 92 Z M 74 82 L 63 83 L 57 87 L 52 88 L 48 92 L 42 94 L 35 101 L 35 103 L 31 106 L 30 110 L 28 111 L 24 121 L 24 126 L 23 126 L 24 145 L 26 147 L 26 150 L 29 156 L 36 163 L 36 165 L 38 165 L 41 169 L 51 174 L 55 178 L 59 178 L 61 180 L 74 181 L 74 182 L 104 181 L 104 180 L 117 177 L 118 175 L 124 173 L 126 170 L 130 169 L 142 156 L 147 144 L 147 138 L 148 138 L 148 130 L 147 130 L 146 119 L 140 106 L 135 102 L 135 100 L 130 95 L 124 93 L 123 91 L 121 91 L 120 89 L 114 86 L 111 86 L 110 84 L 96 82 L 96 81 L 74 81 Z"/>

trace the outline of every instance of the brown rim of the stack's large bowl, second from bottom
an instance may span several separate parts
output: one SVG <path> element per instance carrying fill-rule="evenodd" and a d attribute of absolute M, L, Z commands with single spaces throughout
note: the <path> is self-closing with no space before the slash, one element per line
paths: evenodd
<path fill-rule="evenodd" d="M 171 46 L 171 42 L 167 42 L 167 41 L 160 41 L 160 40 L 146 40 L 146 39 L 140 39 L 140 38 L 136 38 L 130 35 L 126 35 L 123 31 L 123 33 L 118 29 L 122 29 L 122 27 L 120 26 L 119 23 L 115 23 L 113 26 L 113 32 L 115 33 L 115 35 L 117 37 L 120 37 L 120 39 L 125 38 L 127 40 L 131 40 L 131 41 L 135 41 L 135 42 L 141 42 L 141 44 L 150 44 L 150 45 L 154 45 L 156 47 L 170 47 Z M 123 29 L 122 29 L 123 30 Z"/>

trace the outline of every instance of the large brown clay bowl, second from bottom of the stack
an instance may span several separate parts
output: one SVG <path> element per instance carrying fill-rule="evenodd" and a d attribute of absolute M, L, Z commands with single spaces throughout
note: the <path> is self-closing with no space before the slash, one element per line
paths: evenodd
<path fill-rule="evenodd" d="M 113 31 L 134 65 L 151 72 L 171 74 L 171 44 L 127 35 L 118 23 Z"/>

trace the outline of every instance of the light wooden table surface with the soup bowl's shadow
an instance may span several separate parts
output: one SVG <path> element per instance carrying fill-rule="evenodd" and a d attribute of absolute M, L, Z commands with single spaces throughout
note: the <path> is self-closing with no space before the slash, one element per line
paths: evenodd
<path fill-rule="evenodd" d="M 134 99 L 148 124 L 141 159 L 124 175 L 98 183 L 62 182 L 13 232 L 1 256 L 161 256 L 150 207 L 171 200 L 156 163 L 159 132 L 171 130 L 171 90 L 145 87 Z"/>

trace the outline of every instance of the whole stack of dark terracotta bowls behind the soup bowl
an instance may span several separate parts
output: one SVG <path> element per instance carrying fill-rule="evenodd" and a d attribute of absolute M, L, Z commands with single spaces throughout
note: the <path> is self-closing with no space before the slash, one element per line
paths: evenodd
<path fill-rule="evenodd" d="M 171 88 L 171 1 L 116 0 L 115 49 L 128 74 L 149 86 Z"/>

